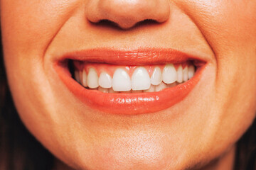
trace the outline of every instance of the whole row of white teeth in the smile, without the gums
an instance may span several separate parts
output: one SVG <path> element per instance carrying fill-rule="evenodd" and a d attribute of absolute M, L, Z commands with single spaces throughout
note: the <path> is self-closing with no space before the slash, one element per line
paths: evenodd
<path fill-rule="evenodd" d="M 113 77 L 107 72 L 101 72 L 100 77 L 98 77 L 95 68 L 90 67 L 87 73 L 85 69 L 82 71 L 76 69 L 75 79 L 82 86 L 89 87 L 90 89 L 98 88 L 99 91 L 105 93 L 131 90 L 153 92 L 174 86 L 176 82 L 182 83 L 187 81 L 193 77 L 194 73 L 195 67 L 192 64 L 184 68 L 180 64 L 177 70 L 174 64 L 166 64 L 162 71 L 160 67 L 154 67 L 151 77 L 149 77 L 149 73 L 144 67 L 137 67 L 131 79 L 123 68 L 117 68 L 114 71 Z"/>

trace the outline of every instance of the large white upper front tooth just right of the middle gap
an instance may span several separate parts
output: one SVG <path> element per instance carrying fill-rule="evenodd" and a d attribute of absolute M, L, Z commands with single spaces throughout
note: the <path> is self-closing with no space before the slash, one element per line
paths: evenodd
<path fill-rule="evenodd" d="M 132 74 L 132 90 L 146 90 L 149 89 L 151 81 L 149 74 L 144 67 L 138 67 Z"/>

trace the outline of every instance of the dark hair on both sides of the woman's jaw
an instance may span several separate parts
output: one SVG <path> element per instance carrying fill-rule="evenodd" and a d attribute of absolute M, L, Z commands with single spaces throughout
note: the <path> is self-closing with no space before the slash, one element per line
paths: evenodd
<path fill-rule="evenodd" d="M 53 155 L 28 132 L 18 117 L 0 50 L 0 169 L 53 169 Z M 256 170 L 256 120 L 237 142 L 234 170 Z"/>

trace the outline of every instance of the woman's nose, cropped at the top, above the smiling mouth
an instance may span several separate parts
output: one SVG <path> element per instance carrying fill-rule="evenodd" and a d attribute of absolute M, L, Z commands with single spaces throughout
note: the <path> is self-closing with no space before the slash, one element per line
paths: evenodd
<path fill-rule="evenodd" d="M 145 20 L 162 23 L 169 15 L 169 0 L 88 0 L 86 6 L 87 20 L 112 21 L 123 29 Z"/>

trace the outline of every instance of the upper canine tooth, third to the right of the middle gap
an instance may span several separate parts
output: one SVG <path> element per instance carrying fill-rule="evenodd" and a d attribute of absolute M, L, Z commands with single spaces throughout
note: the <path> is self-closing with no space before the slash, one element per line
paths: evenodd
<path fill-rule="evenodd" d="M 182 71 L 182 68 L 181 68 Z M 174 83 L 177 80 L 177 72 L 174 64 L 166 64 L 163 70 L 163 81 L 166 84 Z"/>

